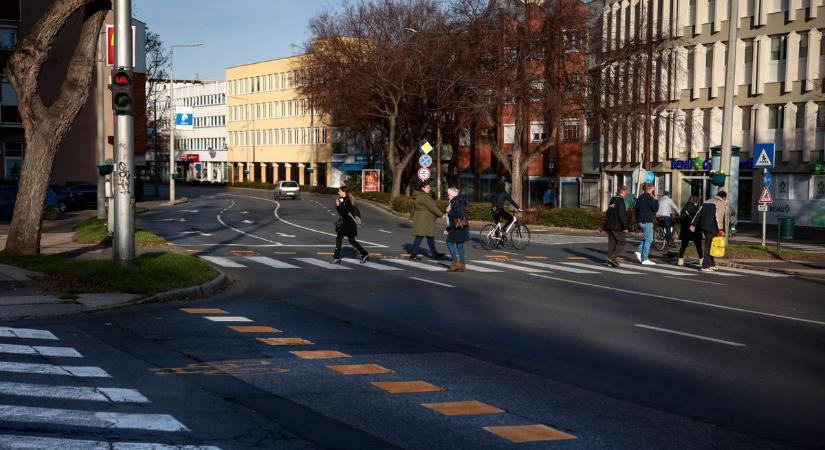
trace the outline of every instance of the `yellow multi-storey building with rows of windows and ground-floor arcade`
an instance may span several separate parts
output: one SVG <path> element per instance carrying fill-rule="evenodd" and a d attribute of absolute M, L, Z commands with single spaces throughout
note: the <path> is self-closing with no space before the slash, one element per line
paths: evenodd
<path fill-rule="evenodd" d="M 226 69 L 231 182 L 328 185 L 329 120 L 296 89 L 302 56 Z"/>

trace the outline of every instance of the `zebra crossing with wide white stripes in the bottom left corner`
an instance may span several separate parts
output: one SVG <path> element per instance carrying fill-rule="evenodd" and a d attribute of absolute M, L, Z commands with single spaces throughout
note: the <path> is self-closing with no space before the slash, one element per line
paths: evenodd
<path fill-rule="evenodd" d="M 84 432 L 99 439 L 103 431 L 124 430 L 130 437 L 146 433 L 153 441 L 158 435 L 164 439 L 170 433 L 189 433 L 190 429 L 174 416 L 154 411 L 151 400 L 136 389 L 97 386 L 104 380 L 107 384 L 115 381 L 105 369 L 63 364 L 63 359 L 68 362 L 84 358 L 76 349 L 31 342 L 60 341 L 51 331 L 0 327 L 0 339 L 10 340 L 0 342 L 0 430 L 13 430 L 13 434 L 0 431 L 0 449 L 220 450 L 214 446 L 78 439 L 77 435 Z M 3 360 L 4 355 L 16 360 Z M 25 360 L 29 358 L 36 360 Z M 20 378 L 21 374 L 24 381 L 4 379 L 14 375 Z M 60 407 L 44 407 L 42 402 L 49 400 L 59 401 Z M 27 404 L 30 402 L 39 403 Z M 122 412 L 116 409 L 118 405 L 134 406 Z M 136 412 L 134 408 L 140 405 Z M 57 436 L 29 436 L 20 431 L 35 428 L 42 435 L 51 427 L 63 431 L 51 431 L 60 434 Z"/>

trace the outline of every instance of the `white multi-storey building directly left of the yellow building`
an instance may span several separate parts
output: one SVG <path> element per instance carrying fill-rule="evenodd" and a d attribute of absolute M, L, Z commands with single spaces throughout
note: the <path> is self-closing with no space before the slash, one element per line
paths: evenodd
<path fill-rule="evenodd" d="M 175 130 L 178 173 L 188 181 L 227 182 L 226 83 L 176 87 L 175 104 L 194 115 L 192 130 Z"/>

